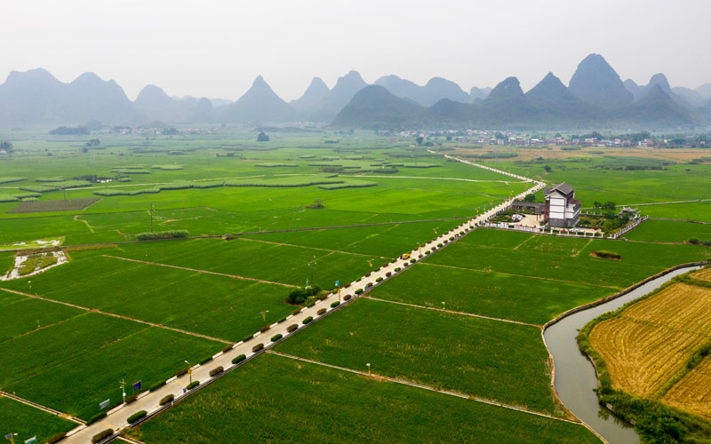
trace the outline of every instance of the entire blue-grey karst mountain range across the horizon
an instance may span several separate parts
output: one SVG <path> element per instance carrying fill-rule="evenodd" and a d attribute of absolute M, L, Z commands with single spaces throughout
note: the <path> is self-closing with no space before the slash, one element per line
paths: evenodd
<path fill-rule="evenodd" d="M 566 86 L 548 73 L 530 91 L 508 77 L 495 88 L 464 91 L 433 77 L 419 85 L 384 75 L 369 85 L 356 71 L 329 89 L 319 77 L 300 99 L 286 102 L 258 76 L 234 102 L 168 96 L 148 85 L 131 101 L 113 80 L 84 73 L 61 83 L 42 68 L 12 71 L 0 84 L 0 126 L 138 123 L 321 123 L 345 128 L 496 129 L 704 128 L 711 123 L 711 83 L 671 88 L 655 74 L 646 85 L 622 82 L 602 56 L 583 59 Z"/>

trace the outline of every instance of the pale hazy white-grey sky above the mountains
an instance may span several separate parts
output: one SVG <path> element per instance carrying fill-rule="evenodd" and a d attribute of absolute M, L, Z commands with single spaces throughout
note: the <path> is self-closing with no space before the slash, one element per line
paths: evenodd
<path fill-rule="evenodd" d="M 311 78 L 332 87 L 356 69 L 523 89 L 553 71 L 568 83 L 598 52 L 622 79 L 711 82 L 710 0 L 1 0 L 0 79 L 44 67 L 70 82 L 84 71 L 170 95 L 237 99 L 264 75 L 284 99 Z"/>

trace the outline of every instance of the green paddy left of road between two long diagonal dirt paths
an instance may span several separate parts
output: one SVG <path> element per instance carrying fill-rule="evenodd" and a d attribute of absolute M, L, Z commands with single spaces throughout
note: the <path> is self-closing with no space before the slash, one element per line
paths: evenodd
<path fill-rule="evenodd" d="M 42 297 L 233 342 L 262 327 L 260 312 L 276 321 L 293 310 L 284 303 L 289 289 L 281 285 L 104 256 L 73 260 L 31 279 L 32 292 Z M 0 283 L 28 289 L 27 280 Z"/>

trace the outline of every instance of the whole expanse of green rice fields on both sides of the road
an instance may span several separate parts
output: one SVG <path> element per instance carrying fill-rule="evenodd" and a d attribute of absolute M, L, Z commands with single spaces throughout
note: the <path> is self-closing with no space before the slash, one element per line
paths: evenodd
<path fill-rule="evenodd" d="M 284 298 L 312 273 L 325 289 L 355 281 L 371 264 L 392 262 L 461 219 L 401 222 L 473 216 L 528 186 L 366 132 L 276 132 L 267 144 L 255 142 L 250 131 L 106 136 L 101 149 L 87 153 L 88 138 L 35 136 L 20 137 L 13 142 L 20 155 L 2 158 L 0 201 L 32 195 L 35 210 L 53 201 L 46 203 L 51 211 L 11 213 L 19 201 L 0 203 L 0 245 L 60 236 L 65 246 L 132 241 L 150 231 L 151 220 L 156 231 L 188 230 L 191 236 L 387 224 L 70 250 L 68 264 L 0 281 L 0 311 L 13 320 L 0 324 L 0 389 L 84 419 L 99 411 L 100 401 L 118 402 L 121 379 L 148 387 L 171 377 L 183 360 L 201 361 L 224 341 L 260 329 L 260 312 L 268 310 L 268 322 L 291 313 Z M 324 145 L 333 139 L 339 141 Z M 542 163 L 501 165 L 544 172 Z M 627 197 L 711 197 L 702 195 L 707 165 L 688 171 L 681 165 L 634 171 L 589 170 L 585 162 L 552 165 L 545 179 L 576 186 L 584 206 L 591 200 L 627 203 Z M 115 180 L 79 182 L 92 175 Z M 296 186 L 321 181 L 344 183 L 322 184 L 335 189 Z M 204 187 L 223 183 L 290 186 Z M 65 195 L 57 184 L 72 186 L 68 199 L 100 200 L 83 210 L 56 211 L 64 208 Z M 135 195 L 106 195 L 119 193 Z M 319 202 L 323 208 L 308 208 Z M 711 220 L 711 202 L 642 208 L 659 217 Z M 665 242 L 705 233 L 691 224 L 668 227 L 665 232 L 674 234 L 665 234 Z M 379 375 L 565 416 L 550 389 L 539 326 L 668 266 L 711 256 L 703 246 L 646 242 L 654 228 L 643 225 L 628 234 L 645 242 L 477 229 L 370 293 L 384 301 L 358 300 L 276 350 L 357 370 L 371 362 Z M 622 260 L 593 258 L 595 250 L 613 250 Z M 4 274 L 12 258 L 0 256 L 0 266 Z M 442 302 L 505 321 L 427 310 Z M 52 421 L 37 421 L 52 429 Z M 577 424 L 270 354 L 135 433 L 149 444 L 230 440 L 235 434 L 272 442 L 294 436 L 316 442 L 597 442 Z"/>

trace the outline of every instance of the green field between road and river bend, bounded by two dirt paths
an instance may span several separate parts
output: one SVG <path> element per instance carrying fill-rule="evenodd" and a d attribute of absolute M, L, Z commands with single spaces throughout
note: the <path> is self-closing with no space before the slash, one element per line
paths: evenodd
<path fill-rule="evenodd" d="M 561 415 L 536 327 L 364 299 L 275 350 Z"/>

